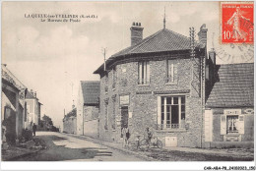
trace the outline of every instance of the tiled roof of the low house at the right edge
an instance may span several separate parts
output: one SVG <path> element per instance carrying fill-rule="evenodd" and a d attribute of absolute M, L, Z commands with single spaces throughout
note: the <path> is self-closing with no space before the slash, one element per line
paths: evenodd
<path fill-rule="evenodd" d="M 254 64 L 220 65 L 207 107 L 254 106 Z"/>

